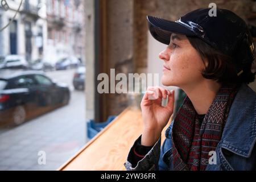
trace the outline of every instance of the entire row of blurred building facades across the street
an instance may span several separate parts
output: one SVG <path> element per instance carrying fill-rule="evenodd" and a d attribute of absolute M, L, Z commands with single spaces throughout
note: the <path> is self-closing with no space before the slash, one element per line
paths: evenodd
<path fill-rule="evenodd" d="M 9 8 L 0 5 L 0 28 L 11 23 L 0 32 L 0 56 L 22 55 L 28 61 L 44 58 L 53 64 L 68 56 L 85 61 L 82 1 L 1 1 Z"/>

